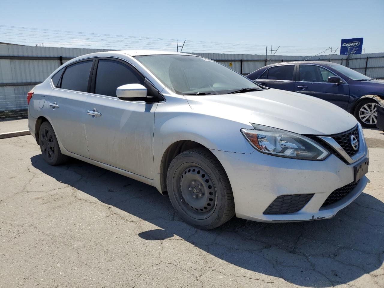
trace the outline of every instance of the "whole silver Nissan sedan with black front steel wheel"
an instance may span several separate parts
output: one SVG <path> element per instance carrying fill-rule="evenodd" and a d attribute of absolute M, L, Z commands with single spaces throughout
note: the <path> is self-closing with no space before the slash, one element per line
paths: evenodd
<path fill-rule="evenodd" d="M 68 61 L 27 96 L 48 164 L 74 157 L 168 194 L 191 225 L 333 217 L 367 184 L 360 124 L 200 56 L 114 51 Z"/>

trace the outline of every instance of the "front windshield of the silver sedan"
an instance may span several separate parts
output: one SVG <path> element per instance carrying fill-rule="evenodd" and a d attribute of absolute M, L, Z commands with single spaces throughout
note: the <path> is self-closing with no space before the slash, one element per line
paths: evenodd
<path fill-rule="evenodd" d="M 251 80 L 215 61 L 188 55 L 135 56 L 174 93 L 226 94 L 244 88 L 261 89 Z"/>

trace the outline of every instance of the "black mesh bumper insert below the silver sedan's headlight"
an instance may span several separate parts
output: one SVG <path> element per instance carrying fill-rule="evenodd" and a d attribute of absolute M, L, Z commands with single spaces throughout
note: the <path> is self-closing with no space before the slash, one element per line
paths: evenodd
<path fill-rule="evenodd" d="M 313 194 L 281 195 L 265 209 L 264 214 L 288 214 L 302 209 Z"/>

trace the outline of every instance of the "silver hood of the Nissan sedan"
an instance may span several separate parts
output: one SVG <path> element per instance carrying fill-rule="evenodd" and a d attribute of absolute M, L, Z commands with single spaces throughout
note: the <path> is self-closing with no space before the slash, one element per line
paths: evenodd
<path fill-rule="evenodd" d="M 356 119 L 327 101 L 295 92 L 266 89 L 248 93 L 185 96 L 190 107 L 207 115 L 255 123 L 300 134 L 330 135 L 356 126 Z"/>

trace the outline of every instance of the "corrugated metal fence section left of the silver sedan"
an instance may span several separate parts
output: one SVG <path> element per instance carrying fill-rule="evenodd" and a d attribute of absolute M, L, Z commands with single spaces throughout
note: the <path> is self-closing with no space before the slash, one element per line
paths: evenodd
<path fill-rule="evenodd" d="M 66 61 L 108 51 L 0 44 L 0 120 L 26 117 L 26 93 Z"/>

